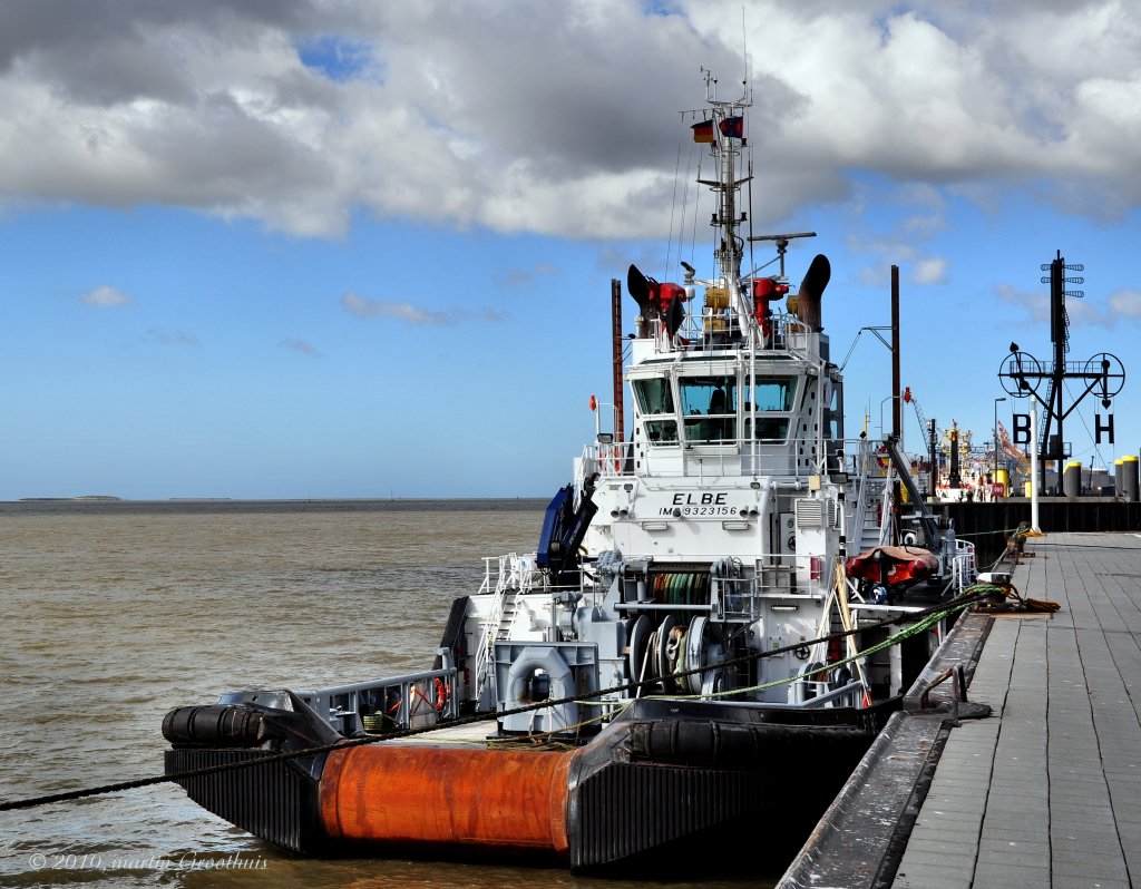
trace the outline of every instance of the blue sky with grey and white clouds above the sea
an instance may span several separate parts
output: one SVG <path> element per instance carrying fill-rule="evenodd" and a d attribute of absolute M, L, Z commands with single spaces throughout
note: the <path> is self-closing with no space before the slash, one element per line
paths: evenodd
<path fill-rule="evenodd" d="M 831 259 L 850 436 L 890 429 L 892 265 L 903 382 L 977 444 L 1058 251 L 1067 359 L 1134 369 L 1135 0 L 6 0 L 0 500 L 553 493 L 610 280 L 712 270 L 703 68 L 752 96 L 753 231 Z M 1138 453 L 1138 397 L 1074 459 Z"/>

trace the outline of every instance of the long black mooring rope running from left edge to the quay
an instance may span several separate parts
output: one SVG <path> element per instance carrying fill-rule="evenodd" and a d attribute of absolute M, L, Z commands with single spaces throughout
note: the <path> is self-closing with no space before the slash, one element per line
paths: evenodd
<path fill-rule="evenodd" d="M 956 612 L 961 612 L 965 608 L 969 608 L 971 605 L 974 605 L 976 603 L 982 601 L 995 595 L 1004 596 L 1005 595 L 1004 588 L 996 587 L 994 584 L 976 584 L 973 587 L 966 588 L 960 596 L 955 597 L 948 603 L 934 605 L 929 608 L 924 608 L 922 611 L 913 612 L 908 616 L 916 617 L 919 619 L 920 622 L 925 622 L 926 619 L 929 617 L 933 619 L 934 615 L 939 615 L 938 619 L 931 620 L 931 623 L 934 623 L 937 622 L 937 620 L 942 620 L 946 616 L 949 616 Z M 898 616 L 888 617 L 883 621 L 879 621 L 877 623 L 830 633 L 828 636 L 820 637 L 819 639 L 814 639 L 811 641 L 800 641 L 793 645 L 783 646 L 780 648 L 771 648 L 767 652 L 752 652 L 748 654 L 739 655 L 737 657 L 731 657 L 726 661 L 721 661 L 718 664 L 712 664 L 712 665 L 706 664 L 703 666 L 694 668 L 691 670 L 686 670 L 683 672 L 675 673 L 674 678 L 682 676 L 690 676 L 695 673 L 703 673 L 709 670 L 715 670 L 726 666 L 735 666 L 738 664 L 748 663 L 751 661 L 759 661 L 764 657 L 775 657 L 777 655 L 787 654 L 790 652 L 802 649 L 806 646 L 826 644 L 834 639 L 835 640 L 845 639 L 856 632 L 874 630 L 879 627 L 884 627 L 890 623 L 895 623 L 898 620 L 899 620 Z M 911 632 L 907 632 L 907 635 L 911 636 L 914 635 L 914 632 L 919 632 L 919 630 L 912 630 Z M 903 638 L 905 637 L 903 637 L 901 633 L 897 635 L 896 637 L 885 640 L 885 642 L 880 642 L 879 645 L 873 646 L 872 648 L 868 649 L 868 652 L 872 653 L 881 650 L 882 648 L 887 647 L 888 642 L 892 642 L 892 640 L 901 641 Z M 830 664 L 826 669 L 832 669 L 834 666 L 835 664 Z M 799 680 L 802 678 L 803 677 L 794 677 L 793 679 Z M 625 682 L 623 685 L 612 686 L 609 688 L 602 688 L 594 692 L 574 694 L 553 701 L 540 701 L 534 704 L 525 704 L 523 706 L 515 708 L 513 710 L 489 711 L 487 713 L 477 713 L 470 717 L 460 717 L 458 719 L 450 720 L 447 725 L 448 727 L 459 727 L 459 726 L 471 725 L 475 722 L 485 722 L 489 719 L 499 719 L 505 716 L 515 716 L 517 713 L 527 713 L 533 710 L 544 710 L 547 708 L 558 706 L 560 704 L 575 703 L 580 698 L 600 697 L 602 695 L 614 694 L 618 692 L 632 692 L 644 686 L 657 685 L 658 681 L 659 680 L 657 678 L 654 678 L 633 682 Z M 733 693 L 739 694 L 742 690 L 743 689 L 733 689 Z M 712 694 L 696 695 L 695 697 L 713 697 L 713 695 Z M 253 766 L 265 766 L 274 762 L 285 762 L 293 759 L 304 759 L 306 757 L 318 755 L 321 753 L 330 753 L 334 750 L 347 750 L 350 747 L 364 746 L 366 744 L 375 744 L 377 742 L 380 741 L 396 741 L 413 735 L 423 735 L 430 732 L 436 732 L 439 728 L 440 727 L 438 725 L 427 726 L 423 728 L 405 728 L 386 735 L 365 735 L 363 737 L 345 738 L 342 741 L 337 741 L 332 744 L 307 747 L 305 750 L 291 750 L 283 753 L 268 753 L 264 757 L 254 757 L 251 759 L 241 760 L 238 762 L 224 762 L 217 766 L 204 766 L 197 769 L 188 769 L 186 771 L 171 773 L 169 775 L 153 775 L 146 778 L 136 778 L 135 781 L 124 781 L 124 782 L 119 782 L 116 784 L 104 784 L 96 787 L 84 787 L 81 790 L 65 791 L 63 793 L 49 793 L 42 797 L 30 797 L 23 800 L 7 800 L 0 802 L 0 811 L 13 811 L 15 809 L 31 809 L 38 806 L 48 806 L 54 802 L 67 802 L 71 800 L 84 799 L 87 797 L 97 797 L 107 793 L 120 793 L 122 791 L 135 790 L 137 787 L 148 787 L 155 784 L 178 783 L 183 781 L 188 781 L 191 778 L 203 777 L 205 775 L 217 775 L 219 773 L 234 771 L 236 769 L 250 768 Z"/>

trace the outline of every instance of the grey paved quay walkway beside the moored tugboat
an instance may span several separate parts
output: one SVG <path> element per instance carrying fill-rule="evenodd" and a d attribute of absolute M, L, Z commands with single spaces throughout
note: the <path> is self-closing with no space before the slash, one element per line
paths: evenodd
<path fill-rule="evenodd" d="M 1060 611 L 961 622 L 992 714 L 889 724 L 779 886 L 1141 886 L 1139 579 L 1141 534 L 1028 540 L 1014 587 Z"/>

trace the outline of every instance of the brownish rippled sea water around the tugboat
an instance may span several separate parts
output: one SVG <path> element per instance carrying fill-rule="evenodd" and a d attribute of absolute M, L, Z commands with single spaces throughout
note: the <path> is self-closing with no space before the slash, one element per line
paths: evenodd
<path fill-rule="evenodd" d="M 163 714 L 221 692 L 311 690 L 430 668 L 452 600 L 478 590 L 485 557 L 534 550 L 542 508 L 0 503 L 0 800 L 161 775 Z M 299 858 L 172 784 L 0 813 L 0 886 L 80 883 L 638 884 L 560 868 Z"/>

